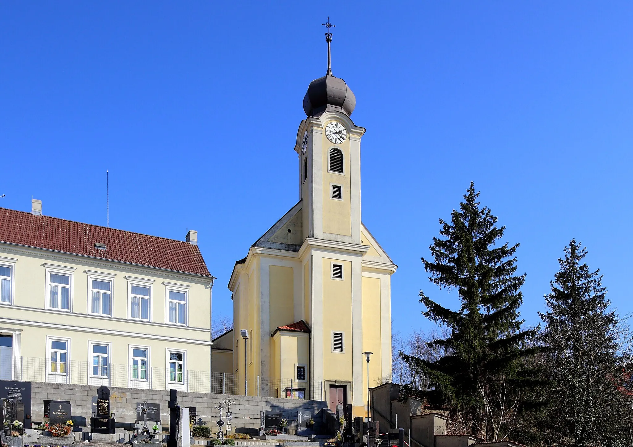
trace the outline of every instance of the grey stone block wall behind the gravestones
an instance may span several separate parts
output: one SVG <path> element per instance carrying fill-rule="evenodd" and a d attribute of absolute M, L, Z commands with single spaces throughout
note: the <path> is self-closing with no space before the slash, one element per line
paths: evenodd
<path fill-rule="evenodd" d="M 88 422 L 92 415 L 93 403 L 96 403 L 97 386 L 68 385 L 58 383 L 32 383 L 31 412 L 34 422 L 44 418 L 44 400 L 70 401 L 73 417 L 84 417 Z M 160 403 L 161 422 L 169 425 L 169 391 L 155 389 L 110 388 L 110 412 L 115 413 L 117 423 L 134 422 L 136 419 L 136 403 Z M 327 403 L 318 400 L 279 399 L 257 396 L 235 396 L 214 393 L 178 392 L 178 402 L 182 407 L 196 407 L 197 419 L 202 419 L 212 432 L 217 431 L 216 421 L 219 412 L 215 409 L 225 399 L 234 400 L 231 405 L 233 429 L 238 427 L 260 427 L 260 412 L 264 410 L 284 412 L 291 420 L 297 419 L 299 410 L 311 412 L 313 415 Z M 225 418 L 225 410 L 222 412 Z"/>

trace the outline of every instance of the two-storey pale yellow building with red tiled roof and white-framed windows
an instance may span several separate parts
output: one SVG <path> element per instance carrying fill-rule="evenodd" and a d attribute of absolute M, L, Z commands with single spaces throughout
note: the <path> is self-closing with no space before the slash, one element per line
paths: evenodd
<path fill-rule="evenodd" d="M 211 286 L 186 242 L 0 208 L 0 379 L 210 391 Z"/>

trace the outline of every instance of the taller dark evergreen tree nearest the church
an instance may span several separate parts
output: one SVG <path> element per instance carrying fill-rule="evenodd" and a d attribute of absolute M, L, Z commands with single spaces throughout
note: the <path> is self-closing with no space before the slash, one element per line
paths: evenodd
<path fill-rule="evenodd" d="M 403 358 L 429 377 L 429 388 L 418 394 L 434 405 L 452 408 L 454 417 L 464 421 L 465 431 L 498 440 L 504 438 L 503 424 L 518 412 L 518 371 L 526 353 L 522 343 L 534 331 L 520 330 L 518 307 L 525 275 L 515 274 L 518 244 L 497 244 L 505 227 L 496 226 L 497 217 L 480 206 L 472 182 L 463 197 L 451 222 L 439 221 L 441 237 L 433 238 L 430 246 L 433 260 L 422 259 L 430 281 L 456 290 L 461 300 L 460 309 L 451 310 L 420 291 L 420 302 L 427 307 L 423 315 L 451 330 L 446 340 L 429 343 L 445 355 L 435 362 Z"/>

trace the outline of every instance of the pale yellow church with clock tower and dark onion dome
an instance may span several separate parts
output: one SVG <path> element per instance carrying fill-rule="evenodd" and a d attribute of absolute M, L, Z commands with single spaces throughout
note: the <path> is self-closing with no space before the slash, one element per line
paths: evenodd
<path fill-rule="evenodd" d="M 298 202 L 235 262 L 234 330 L 213 341 L 213 370 L 237 374 L 248 395 L 351 404 L 366 416 L 368 387 L 391 378 L 397 266 L 361 221 L 365 129 L 326 40 L 327 74 L 308 87 L 292 148 Z"/>

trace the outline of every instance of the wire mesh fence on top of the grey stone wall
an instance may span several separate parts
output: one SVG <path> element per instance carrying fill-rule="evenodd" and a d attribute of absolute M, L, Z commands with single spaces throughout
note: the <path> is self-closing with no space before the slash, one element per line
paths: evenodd
<path fill-rule="evenodd" d="M 64 360 L 64 361 L 62 361 Z M 2 362 L 4 365 L 5 362 Z M 16 357 L 12 378 L 29 382 L 65 383 L 77 385 L 106 385 L 137 389 L 178 389 L 194 393 L 218 393 L 248 395 L 270 398 L 322 400 L 322 383 L 318 381 L 296 381 L 274 377 L 256 376 L 254 383 L 245 384 L 237 374 L 229 372 L 207 372 L 196 370 L 170 370 L 160 367 L 139 369 L 132 365 L 91 364 L 80 360 L 58 358 L 56 362 L 47 358 Z M 11 377 L 7 377 L 11 379 Z"/>

